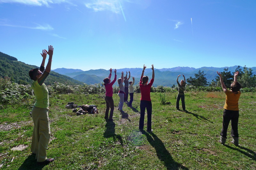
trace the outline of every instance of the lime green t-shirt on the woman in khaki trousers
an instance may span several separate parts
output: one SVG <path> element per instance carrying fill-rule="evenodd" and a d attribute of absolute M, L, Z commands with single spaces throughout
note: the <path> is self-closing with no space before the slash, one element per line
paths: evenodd
<path fill-rule="evenodd" d="M 34 90 L 36 96 L 36 103 L 34 106 L 39 108 L 48 108 L 49 99 L 48 99 L 48 89 L 43 83 L 42 86 L 37 81 L 32 83 L 32 89 Z"/>

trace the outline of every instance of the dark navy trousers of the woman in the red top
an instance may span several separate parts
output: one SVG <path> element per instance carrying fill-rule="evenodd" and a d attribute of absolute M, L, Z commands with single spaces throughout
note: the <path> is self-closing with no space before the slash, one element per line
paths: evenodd
<path fill-rule="evenodd" d="M 147 108 L 148 114 L 148 122 L 147 122 L 147 131 L 151 131 L 151 115 L 152 115 L 152 103 L 151 101 L 141 100 L 140 101 L 140 123 L 139 129 L 143 130 L 144 127 L 144 117 L 145 117 L 145 110 Z"/>

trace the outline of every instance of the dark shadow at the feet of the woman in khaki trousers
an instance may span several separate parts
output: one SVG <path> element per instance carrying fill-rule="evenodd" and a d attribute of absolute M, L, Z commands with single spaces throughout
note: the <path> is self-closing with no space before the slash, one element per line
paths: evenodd
<path fill-rule="evenodd" d="M 45 165 L 37 165 L 35 155 L 29 155 L 28 158 L 22 163 L 18 170 L 40 170 L 43 169 Z"/>

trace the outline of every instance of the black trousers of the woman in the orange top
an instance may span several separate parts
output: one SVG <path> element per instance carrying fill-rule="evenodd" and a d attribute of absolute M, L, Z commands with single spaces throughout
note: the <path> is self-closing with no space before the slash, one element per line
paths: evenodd
<path fill-rule="evenodd" d="M 227 110 L 223 111 L 222 129 L 220 135 L 227 138 L 228 124 L 231 120 L 231 136 L 238 138 L 238 117 L 239 111 Z"/>

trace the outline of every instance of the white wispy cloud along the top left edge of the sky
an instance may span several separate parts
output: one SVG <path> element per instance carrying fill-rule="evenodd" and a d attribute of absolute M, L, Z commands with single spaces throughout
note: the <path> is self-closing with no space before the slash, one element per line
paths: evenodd
<path fill-rule="evenodd" d="M 0 3 L 20 3 L 35 6 L 49 6 L 49 4 L 59 4 L 67 2 L 67 0 L 0 0 Z"/>

